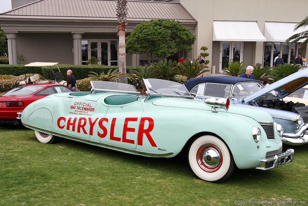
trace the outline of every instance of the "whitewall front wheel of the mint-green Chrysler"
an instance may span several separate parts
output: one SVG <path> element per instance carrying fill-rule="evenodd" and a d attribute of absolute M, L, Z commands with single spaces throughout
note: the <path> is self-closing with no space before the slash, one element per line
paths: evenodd
<path fill-rule="evenodd" d="M 225 181 L 235 170 L 229 148 L 219 138 L 210 135 L 193 141 L 188 150 L 188 162 L 198 178 L 214 183 Z"/>

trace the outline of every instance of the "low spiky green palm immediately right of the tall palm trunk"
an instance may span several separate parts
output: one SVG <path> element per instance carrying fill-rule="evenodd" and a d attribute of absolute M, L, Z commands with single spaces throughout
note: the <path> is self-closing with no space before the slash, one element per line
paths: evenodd
<path fill-rule="evenodd" d="M 128 76 L 138 78 L 140 80 L 142 90 L 145 92 L 147 88 L 145 87 L 143 79 L 156 78 L 157 71 L 152 66 L 145 65 L 145 67 L 137 67 L 136 70 L 130 70 Z"/>

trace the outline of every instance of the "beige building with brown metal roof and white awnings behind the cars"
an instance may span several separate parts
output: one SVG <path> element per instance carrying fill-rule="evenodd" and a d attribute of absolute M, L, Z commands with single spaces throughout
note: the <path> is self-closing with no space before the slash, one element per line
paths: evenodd
<path fill-rule="evenodd" d="M 10 64 L 22 54 L 23 63 L 84 64 L 96 55 L 100 64 L 117 65 L 115 5 L 113 0 L 12 0 L 13 9 L 0 14 Z M 210 54 L 206 59 L 210 68 L 216 66 L 216 73 L 232 61 L 243 61 L 245 67 L 272 66 L 279 53 L 286 63 L 293 63 L 298 53 L 306 55 L 306 46 L 299 49 L 298 43 L 289 46 L 285 40 L 307 10 L 305 0 L 128 1 L 127 34 L 141 20 L 176 19 L 197 40 L 191 52 L 178 53 L 175 60 L 183 55 L 197 58 L 206 46 Z M 127 65 L 142 65 L 147 57 L 127 54 L 126 59 Z"/>

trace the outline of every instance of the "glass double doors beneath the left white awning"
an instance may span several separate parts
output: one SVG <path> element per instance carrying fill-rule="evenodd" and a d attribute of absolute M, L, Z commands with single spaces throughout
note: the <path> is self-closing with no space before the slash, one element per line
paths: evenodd
<path fill-rule="evenodd" d="M 243 42 L 221 41 L 219 72 L 229 68 L 228 63 L 233 61 L 243 61 Z M 230 51 L 231 48 L 231 51 Z"/>

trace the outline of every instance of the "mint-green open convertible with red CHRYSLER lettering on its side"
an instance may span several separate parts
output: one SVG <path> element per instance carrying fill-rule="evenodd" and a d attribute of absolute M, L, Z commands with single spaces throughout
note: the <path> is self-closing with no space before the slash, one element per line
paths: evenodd
<path fill-rule="evenodd" d="M 49 95 L 26 107 L 22 124 L 42 143 L 59 137 L 148 157 L 188 152 L 197 177 L 219 183 L 237 166 L 268 170 L 292 162 L 283 127 L 264 111 L 230 107 L 228 98 L 195 101 L 184 85 L 144 79 L 134 86 L 92 81 L 91 92 Z"/>

